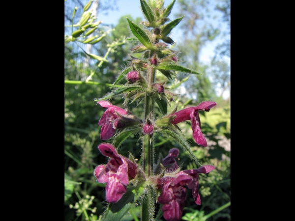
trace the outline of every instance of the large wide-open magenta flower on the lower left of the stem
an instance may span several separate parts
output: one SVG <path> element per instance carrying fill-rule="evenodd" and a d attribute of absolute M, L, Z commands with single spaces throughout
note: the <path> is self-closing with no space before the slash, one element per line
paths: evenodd
<path fill-rule="evenodd" d="M 110 157 L 110 160 L 107 165 L 96 166 L 93 174 L 98 182 L 107 183 L 106 200 L 109 203 L 118 202 L 122 195 L 127 192 L 128 177 L 135 178 L 137 165 L 119 155 L 111 144 L 102 143 L 98 148 L 104 156 Z"/>

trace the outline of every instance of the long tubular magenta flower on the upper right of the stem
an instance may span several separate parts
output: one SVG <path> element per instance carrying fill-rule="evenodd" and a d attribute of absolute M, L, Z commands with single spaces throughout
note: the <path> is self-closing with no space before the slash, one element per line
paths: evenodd
<path fill-rule="evenodd" d="M 176 116 L 176 118 L 174 118 L 171 123 L 178 124 L 185 120 L 191 120 L 193 138 L 199 145 L 205 147 L 207 146 L 207 141 L 201 131 L 201 121 L 198 111 L 210 111 L 210 108 L 214 107 L 215 105 L 215 102 L 205 101 L 196 107 L 186 108 L 181 111 L 177 111 L 176 113 L 172 114 L 172 116 Z"/>

